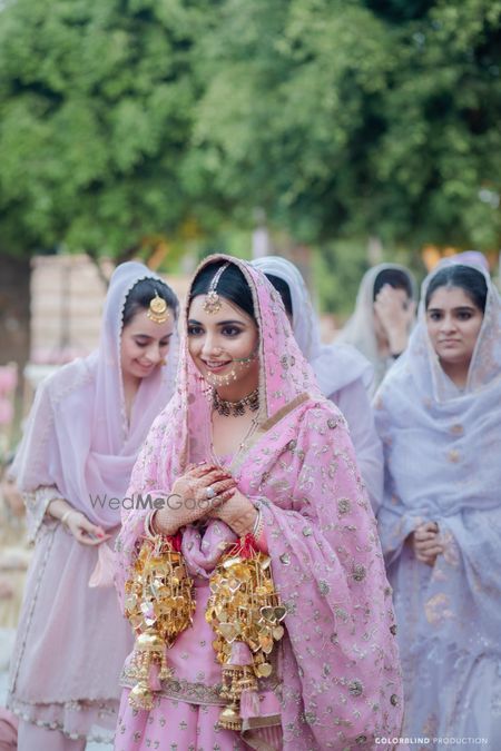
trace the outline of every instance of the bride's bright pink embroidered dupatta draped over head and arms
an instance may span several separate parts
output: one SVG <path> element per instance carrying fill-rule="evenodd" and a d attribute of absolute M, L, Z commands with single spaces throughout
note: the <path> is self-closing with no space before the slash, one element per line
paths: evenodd
<path fill-rule="evenodd" d="M 400 730 L 401 679 L 391 590 L 345 422 L 320 393 L 278 293 L 245 261 L 212 256 L 202 267 L 219 258 L 246 277 L 261 333 L 258 428 L 229 468 L 239 490 L 262 505 L 275 584 L 287 606 L 278 654 L 283 748 L 376 748 L 376 737 Z M 154 423 L 129 495 L 165 497 L 189 462 L 215 461 L 210 406 L 187 350 L 186 319 L 185 312 L 176 394 Z M 122 516 L 120 587 L 145 513 Z M 186 527 L 190 570 L 209 575 L 222 540 L 234 533 L 218 521 L 202 538 Z"/>

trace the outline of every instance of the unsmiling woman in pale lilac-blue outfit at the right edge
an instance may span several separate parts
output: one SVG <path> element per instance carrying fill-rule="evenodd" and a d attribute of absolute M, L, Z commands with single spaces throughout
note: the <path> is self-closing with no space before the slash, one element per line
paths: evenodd
<path fill-rule="evenodd" d="M 488 274 L 443 263 L 375 399 L 379 514 L 394 587 L 406 735 L 501 743 L 501 328 Z"/>

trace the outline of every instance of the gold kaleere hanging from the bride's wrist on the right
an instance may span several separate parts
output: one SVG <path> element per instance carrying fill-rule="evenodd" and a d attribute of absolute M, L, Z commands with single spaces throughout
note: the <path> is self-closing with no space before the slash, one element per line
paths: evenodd
<path fill-rule="evenodd" d="M 271 655 L 284 635 L 281 603 L 271 569 L 253 535 L 229 550 L 210 576 L 210 597 L 205 613 L 216 639 L 217 661 L 223 665 L 222 699 L 227 703 L 218 724 L 242 730 L 243 720 L 259 714 L 257 679 L 273 672 Z"/>

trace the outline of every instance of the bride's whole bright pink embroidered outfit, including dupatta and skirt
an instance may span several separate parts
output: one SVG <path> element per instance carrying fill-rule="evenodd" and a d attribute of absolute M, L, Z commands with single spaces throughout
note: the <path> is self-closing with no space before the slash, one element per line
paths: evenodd
<path fill-rule="evenodd" d="M 235 534 L 220 521 L 183 530 L 194 579 L 191 628 L 168 650 L 174 675 L 150 711 L 130 706 L 126 663 L 117 751 L 177 749 L 372 749 L 397 734 L 402 688 L 391 589 L 375 521 L 345 421 L 317 388 L 264 275 L 244 261 L 259 326 L 259 411 L 255 432 L 227 465 L 262 508 L 273 577 L 286 606 L 272 674 L 258 681 L 258 709 L 240 732 L 222 730 L 222 670 L 204 617 L 208 580 Z M 204 265 L 203 264 L 203 265 Z M 186 314 L 184 326 L 186 328 Z M 155 421 L 128 494 L 168 495 L 188 463 L 216 462 L 207 386 L 181 342 L 176 395 Z M 145 535 L 146 511 L 122 517 L 119 595 Z"/>

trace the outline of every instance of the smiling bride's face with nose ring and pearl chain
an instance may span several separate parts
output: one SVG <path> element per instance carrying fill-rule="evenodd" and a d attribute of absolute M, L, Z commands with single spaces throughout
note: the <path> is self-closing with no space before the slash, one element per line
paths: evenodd
<path fill-rule="evenodd" d="M 212 385 L 237 386 L 240 383 L 253 391 L 257 386 L 259 367 L 257 325 L 238 306 L 223 296 L 219 300 L 217 313 L 205 310 L 205 295 L 191 300 L 188 313 L 189 354 Z"/>

